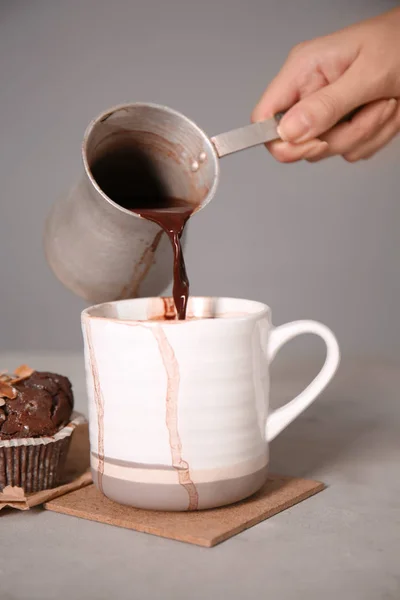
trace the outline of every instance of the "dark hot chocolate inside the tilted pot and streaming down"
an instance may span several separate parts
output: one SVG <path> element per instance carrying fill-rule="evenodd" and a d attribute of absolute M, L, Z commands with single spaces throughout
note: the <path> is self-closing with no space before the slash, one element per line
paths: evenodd
<path fill-rule="evenodd" d="M 135 147 L 116 150 L 92 166 L 92 174 L 111 200 L 159 225 L 168 235 L 174 253 L 173 297 L 178 319 L 185 319 L 189 280 L 181 237 L 194 206 L 172 198 L 152 162 Z"/>

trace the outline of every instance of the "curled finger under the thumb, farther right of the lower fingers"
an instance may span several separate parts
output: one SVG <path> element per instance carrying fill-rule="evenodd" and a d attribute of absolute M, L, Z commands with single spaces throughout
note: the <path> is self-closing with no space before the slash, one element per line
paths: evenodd
<path fill-rule="evenodd" d="M 322 139 L 328 143 L 328 148 L 323 154 L 311 157 L 311 160 L 316 162 L 329 156 L 337 154 L 344 156 L 356 152 L 381 131 L 382 126 L 395 114 L 396 109 L 395 98 L 371 102 L 357 113 L 350 123 L 338 125 L 323 135 Z"/>

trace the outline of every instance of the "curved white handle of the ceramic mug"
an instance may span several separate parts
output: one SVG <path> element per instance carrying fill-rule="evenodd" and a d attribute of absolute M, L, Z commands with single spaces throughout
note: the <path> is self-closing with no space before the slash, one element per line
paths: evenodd
<path fill-rule="evenodd" d="M 316 321 L 294 321 L 271 330 L 268 342 L 268 359 L 271 363 L 278 350 L 289 340 L 304 333 L 312 333 L 321 337 L 326 344 L 326 360 L 321 371 L 305 390 L 274 410 L 267 419 L 266 438 L 271 442 L 285 427 L 300 415 L 319 394 L 326 388 L 340 362 L 339 345 L 332 331 Z"/>

